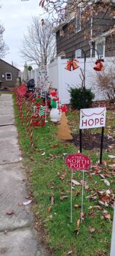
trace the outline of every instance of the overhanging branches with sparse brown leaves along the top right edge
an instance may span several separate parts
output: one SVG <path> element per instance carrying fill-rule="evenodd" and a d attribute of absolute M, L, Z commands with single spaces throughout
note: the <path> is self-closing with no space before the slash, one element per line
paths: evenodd
<path fill-rule="evenodd" d="M 115 0 L 41 0 L 39 3 L 56 24 L 71 20 L 71 17 L 78 15 L 79 9 L 82 8 L 80 21 L 84 29 L 87 27 L 87 20 L 96 17 L 100 12 L 101 18 L 95 20 L 95 23 L 107 14 L 111 17 L 114 16 L 115 11 L 111 12 L 113 4 L 115 4 Z"/>

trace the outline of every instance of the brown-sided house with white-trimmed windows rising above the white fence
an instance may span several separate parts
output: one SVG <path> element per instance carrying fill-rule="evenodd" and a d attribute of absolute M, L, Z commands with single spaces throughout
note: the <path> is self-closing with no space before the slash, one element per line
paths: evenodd
<path fill-rule="evenodd" d="M 111 6 L 109 14 L 98 12 L 95 17 L 86 18 L 84 24 L 82 12 L 82 8 L 79 7 L 77 15 L 72 13 L 67 22 L 57 26 L 57 56 L 64 51 L 67 59 L 82 58 L 83 50 L 87 51 L 89 58 L 97 58 L 98 53 L 101 58 L 115 56 L 115 16 L 112 15 L 115 13 L 115 4 Z"/>

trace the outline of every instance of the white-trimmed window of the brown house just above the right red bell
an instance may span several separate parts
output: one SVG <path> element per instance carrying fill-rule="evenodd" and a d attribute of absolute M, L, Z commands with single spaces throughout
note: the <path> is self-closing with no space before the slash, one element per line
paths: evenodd
<path fill-rule="evenodd" d="M 96 40 L 95 41 L 95 49 L 98 51 L 98 53 L 95 52 L 95 57 L 104 58 L 105 57 L 105 39 Z"/>

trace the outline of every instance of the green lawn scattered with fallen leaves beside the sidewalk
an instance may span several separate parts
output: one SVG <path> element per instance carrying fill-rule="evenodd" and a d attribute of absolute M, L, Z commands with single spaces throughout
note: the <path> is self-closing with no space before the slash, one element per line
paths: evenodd
<path fill-rule="evenodd" d="M 113 117 L 113 118 L 112 118 Z M 78 132 L 79 113 L 68 113 L 68 121 L 73 132 Z M 115 126 L 114 116 L 111 111 L 107 112 L 107 125 Z M 57 126 L 51 121 L 45 127 L 33 128 L 33 148 L 30 147 L 30 138 L 26 135 L 25 127 L 20 122 L 17 106 L 15 105 L 15 123 L 18 129 L 20 146 L 23 150 L 23 161 L 29 172 L 30 189 L 36 199 L 34 211 L 39 221 L 47 230 L 46 241 L 52 250 L 52 256 L 108 256 L 110 255 L 111 227 L 113 208 L 100 206 L 98 190 L 110 189 L 100 177 L 92 175 L 93 168 L 84 175 L 87 186 L 84 189 L 84 222 L 80 222 L 82 186 L 74 186 L 73 189 L 73 223 L 70 222 L 70 194 L 71 194 L 71 171 L 65 164 L 65 156 L 75 153 L 79 148 L 69 143 L 57 140 Z M 75 130 L 76 129 L 76 130 Z M 96 130 L 94 130 L 96 132 Z M 114 135 L 114 131 L 109 134 Z M 106 129 L 106 134 L 108 129 Z M 111 149 L 112 150 L 112 149 Z M 43 154 L 45 152 L 45 154 Z M 96 166 L 99 152 L 83 151 L 91 157 Z M 106 164 L 102 166 L 101 174 L 111 173 L 108 164 L 109 152 L 104 152 L 103 159 Z M 113 154 L 113 153 L 112 153 Z M 100 168 L 100 167 L 98 167 Z M 60 178 L 64 173 L 65 178 Z M 82 172 L 74 173 L 76 181 L 82 180 Z M 114 191 L 114 176 L 107 178 L 111 183 L 111 193 Z M 96 200 L 90 200 L 89 195 L 97 195 Z M 60 196 L 68 195 L 61 200 Z M 78 208 L 74 208 L 78 205 Z M 92 206 L 92 208 L 91 208 Z M 100 206 L 100 208 L 93 208 Z M 103 211 L 110 214 L 110 218 L 104 217 Z M 50 254 L 51 255 L 51 254 Z"/>

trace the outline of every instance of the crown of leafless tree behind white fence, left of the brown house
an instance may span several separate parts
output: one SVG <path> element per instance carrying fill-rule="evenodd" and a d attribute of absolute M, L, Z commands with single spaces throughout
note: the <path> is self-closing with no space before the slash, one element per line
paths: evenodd
<path fill-rule="evenodd" d="M 54 59 L 56 54 L 55 34 L 49 20 L 41 23 L 39 18 L 34 17 L 33 23 L 24 34 L 21 55 L 33 64 L 46 65 Z"/>

